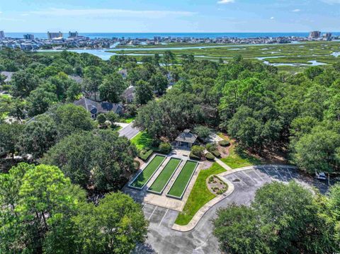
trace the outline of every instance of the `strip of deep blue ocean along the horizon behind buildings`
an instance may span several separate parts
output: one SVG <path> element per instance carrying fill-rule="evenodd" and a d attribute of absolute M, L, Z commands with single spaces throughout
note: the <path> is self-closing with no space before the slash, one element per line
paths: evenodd
<path fill-rule="evenodd" d="M 29 32 L 27 32 L 29 33 Z M 5 33 L 6 37 L 22 38 L 27 33 Z M 47 38 L 47 33 L 30 33 L 35 35 L 36 38 Z M 340 32 L 332 33 L 335 36 L 340 36 Z M 215 38 L 215 37 L 307 37 L 309 33 L 79 33 L 79 35 L 94 38 L 112 38 L 112 37 L 125 37 L 125 38 L 146 38 L 153 39 L 154 36 L 160 37 L 196 37 L 196 38 Z M 68 32 L 64 33 L 64 37 L 68 37 Z"/>

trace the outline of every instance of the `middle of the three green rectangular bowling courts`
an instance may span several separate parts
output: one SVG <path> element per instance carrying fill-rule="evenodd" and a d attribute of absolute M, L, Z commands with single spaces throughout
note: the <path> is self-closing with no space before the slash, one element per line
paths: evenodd
<path fill-rule="evenodd" d="M 164 187 L 169 183 L 169 180 L 172 175 L 174 175 L 179 163 L 181 163 L 181 159 L 171 158 L 148 190 L 162 194 Z"/>

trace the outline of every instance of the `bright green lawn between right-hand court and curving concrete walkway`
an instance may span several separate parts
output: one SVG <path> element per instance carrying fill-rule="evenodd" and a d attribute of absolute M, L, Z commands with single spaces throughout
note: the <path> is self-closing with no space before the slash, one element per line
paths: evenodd
<path fill-rule="evenodd" d="M 210 175 L 216 175 L 225 172 L 225 168 L 222 168 L 219 164 L 213 163 L 208 169 L 201 170 L 196 179 L 195 185 L 186 201 L 186 205 L 183 208 L 183 212 L 179 213 L 175 223 L 178 225 L 187 225 L 193 216 L 198 212 L 200 207 L 203 207 L 206 203 L 216 197 L 215 194 L 210 192 L 206 185 L 206 180 Z"/>

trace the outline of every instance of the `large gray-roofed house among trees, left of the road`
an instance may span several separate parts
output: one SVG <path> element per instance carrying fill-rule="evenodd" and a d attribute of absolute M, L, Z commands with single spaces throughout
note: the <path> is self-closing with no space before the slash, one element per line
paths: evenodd
<path fill-rule="evenodd" d="M 85 108 L 91 113 L 91 117 L 96 119 L 99 114 L 105 114 L 107 112 L 115 112 L 117 115 L 123 115 L 123 105 L 118 103 L 108 103 L 106 101 L 97 102 L 90 100 L 89 98 L 81 98 L 80 100 L 74 101 L 75 105 L 79 105 Z"/>

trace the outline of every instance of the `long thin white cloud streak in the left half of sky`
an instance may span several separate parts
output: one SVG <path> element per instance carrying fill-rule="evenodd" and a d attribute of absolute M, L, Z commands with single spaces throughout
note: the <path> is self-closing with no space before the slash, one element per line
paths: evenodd
<path fill-rule="evenodd" d="M 191 11 L 135 11 L 113 8 L 94 8 L 94 9 L 66 9 L 49 8 L 42 11 L 30 11 L 35 15 L 47 16 L 132 16 L 159 18 L 163 16 L 192 16 L 196 13 Z"/>

